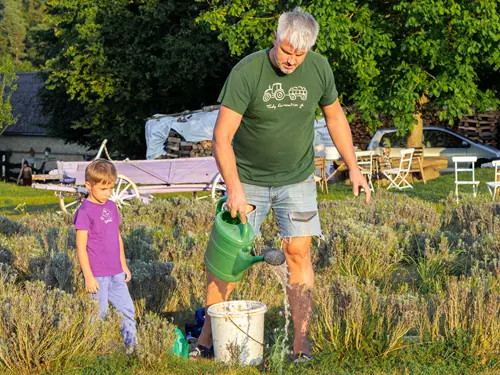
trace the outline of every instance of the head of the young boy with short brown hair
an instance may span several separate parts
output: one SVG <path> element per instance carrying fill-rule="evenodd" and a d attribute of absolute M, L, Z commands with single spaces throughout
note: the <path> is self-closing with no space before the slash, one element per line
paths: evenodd
<path fill-rule="evenodd" d="M 85 187 L 89 199 L 96 203 L 105 203 L 113 192 L 116 182 L 115 166 L 104 159 L 97 159 L 85 169 Z"/>

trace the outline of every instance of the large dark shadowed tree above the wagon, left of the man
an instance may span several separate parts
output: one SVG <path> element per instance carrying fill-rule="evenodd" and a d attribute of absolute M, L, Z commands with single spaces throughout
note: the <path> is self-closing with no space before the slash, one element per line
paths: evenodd
<path fill-rule="evenodd" d="M 213 104 L 234 61 L 195 24 L 200 9 L 182 0 L 49 0 L 48 131 L 93 147 L 108 138 L 113 150 L 144 158 L 147 117 Z"/>

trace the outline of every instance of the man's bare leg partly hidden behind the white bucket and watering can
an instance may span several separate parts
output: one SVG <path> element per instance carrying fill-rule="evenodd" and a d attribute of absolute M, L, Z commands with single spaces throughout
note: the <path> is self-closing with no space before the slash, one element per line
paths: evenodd
<path fill-rule="evenodd" d="M 212 346 L 212 324 L 208 316 L 208 308 L 219 302 L 227 301 L 229 295 L 234 290 L 236 283 L 228 283 L 215 277 L 207 270 L 207 298 L 205 301 L 205 323 L 198 337 L 198 345 L 203 345 L 207 348 Z"/>

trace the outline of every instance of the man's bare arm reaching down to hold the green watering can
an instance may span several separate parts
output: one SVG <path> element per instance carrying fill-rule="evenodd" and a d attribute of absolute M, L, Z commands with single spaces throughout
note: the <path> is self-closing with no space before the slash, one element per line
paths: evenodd
<path fill-rule="evenodd" d="M 238 112 L 223 105 L 220 106 L 214 128 L 212 150 L 227 187 L 226 204 L 231 211 L 231 216 L 235 217 L 236 212 L 239 212 L 242 222 L 246 222 L 247 200 L 236 169 L 236 157 L 232 146 L 241 118 L 242 115 Z"/>

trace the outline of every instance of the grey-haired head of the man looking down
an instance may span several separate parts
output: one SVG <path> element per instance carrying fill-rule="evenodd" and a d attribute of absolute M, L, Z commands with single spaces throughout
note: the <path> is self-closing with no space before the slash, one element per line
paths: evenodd
<path fill-rule="evenodd" d="M 274 36 L 273 65 L 284 74 L 292 73 L 316 43 L 318 32 L 318 23 L 310 13 L 299 8 L 283 13 Z"/>

